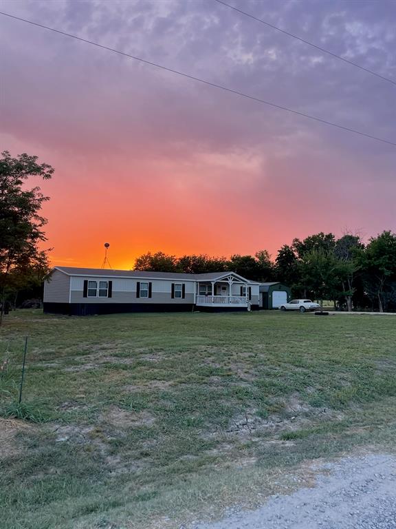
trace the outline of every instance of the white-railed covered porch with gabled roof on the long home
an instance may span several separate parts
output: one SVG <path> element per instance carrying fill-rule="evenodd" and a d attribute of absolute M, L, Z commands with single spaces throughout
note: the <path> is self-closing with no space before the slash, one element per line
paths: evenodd
<path fill-rule="evenodd" d="M 248 282 L 228 274 L 216 280 L 198 280 L 195 293 L 197 307 L 248 308 L 252 298 Z"/>

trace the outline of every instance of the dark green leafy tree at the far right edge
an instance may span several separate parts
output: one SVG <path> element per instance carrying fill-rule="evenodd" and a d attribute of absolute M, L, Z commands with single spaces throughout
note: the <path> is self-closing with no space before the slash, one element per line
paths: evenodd
<path fill-rule="evenodd" d="M 384 312 L 396 280 L 396 234 L 383 231 L 372 237 L 362 253 L 361 264 L 366 291 L 370 298 L 376 298 L 378 310 Z"/>

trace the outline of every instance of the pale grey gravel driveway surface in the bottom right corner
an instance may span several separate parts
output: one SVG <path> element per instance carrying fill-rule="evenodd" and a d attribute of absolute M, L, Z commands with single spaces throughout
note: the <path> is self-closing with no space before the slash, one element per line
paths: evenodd
<path fill-rule="evenodd" d="M 272 496 L 265 506 L 234 512 L 194 529 L 396 529 L 396 457 L 366 455 L 314 467 L 314 488 Z"/>

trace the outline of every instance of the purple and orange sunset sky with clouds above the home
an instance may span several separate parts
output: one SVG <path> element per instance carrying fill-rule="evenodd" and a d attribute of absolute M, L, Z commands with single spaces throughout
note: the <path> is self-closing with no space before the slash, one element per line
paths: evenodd
<path fill-rule="evenodd" d="M 229 0 L 396 81 L 396 1 Z M 0 10 L 396 142 L 396 86 L 214 0 Z M 276 251 L 396 231 L 396 147 L 0 16 L 0 151 L 55 168 L 52 264 Z"/>

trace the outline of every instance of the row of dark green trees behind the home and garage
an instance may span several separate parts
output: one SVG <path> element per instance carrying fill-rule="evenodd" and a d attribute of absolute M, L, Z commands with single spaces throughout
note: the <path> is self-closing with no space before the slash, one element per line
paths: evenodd
<path fill-rule="evenodd" d="M 311 235 L 283 245 L 275 260 L 267 250 L 230 258 L 207 255 L 176 257 L 162 251 L 145 253 L 135 260 L 135 270 L 207 273 L 234 271 L 259 282 L 281 282 L 295 298 L 332 300 L 335 307 L 351 311 L 396 310 L 396 234 L 383 231 L 364 245 L 361 238 L 345 234 Z"/>

